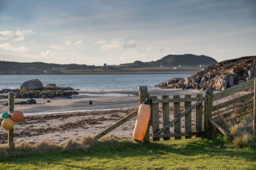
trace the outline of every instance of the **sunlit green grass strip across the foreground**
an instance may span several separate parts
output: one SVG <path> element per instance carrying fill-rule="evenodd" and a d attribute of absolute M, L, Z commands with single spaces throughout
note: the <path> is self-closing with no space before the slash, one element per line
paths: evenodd
<path fill-rule="evenodd" d="M 0 169 L 256 169 L 256 152 L 202 139 L 140 145 L 104 138 L 86 151 L 58 149 L 1 157 Z"/>

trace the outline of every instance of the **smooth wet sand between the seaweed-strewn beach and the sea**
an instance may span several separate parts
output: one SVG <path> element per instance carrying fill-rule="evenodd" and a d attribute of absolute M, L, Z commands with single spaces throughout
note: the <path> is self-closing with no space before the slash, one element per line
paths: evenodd
<path fill-rule="evenodd" d="M 20 110 L 26 115 L 52 114 L 52 113 L 74 113 L 77 111 L 106 111 L 120 110 L 124 108 L 138 108 L 138 90 L 79 90 L 80 95 L 68 98 L 34 98 L 36 104 L 16 104 L 15 110 Z M 90 94 L 88 95 L 84 95 Z M 150 89 L 148 94 L 151 96 L 173 96 L 185 94 L 202 93 L 198 90 L 182 90 L 182 89 Z M 115 95 L 109 95 L 115 94 Z M 118 94 L 118 95 L 116 95 Z M 28 99 L 15 99 L 15 102 L 26 101 Z M 90 104 L 92 101 L 92 104 Z M 8 106 L 3 106 L 8 99 L 0 99 L 0 112 L 8 110 Z"/>

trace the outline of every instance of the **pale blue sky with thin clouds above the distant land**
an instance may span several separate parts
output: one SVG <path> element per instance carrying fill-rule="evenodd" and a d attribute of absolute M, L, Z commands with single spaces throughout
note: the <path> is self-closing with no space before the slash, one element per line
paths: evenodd
<path fill-rule="evenodd" d="M 256 55 L 256 1 L 0 0 L 0 60 L 102 66 Z"/>

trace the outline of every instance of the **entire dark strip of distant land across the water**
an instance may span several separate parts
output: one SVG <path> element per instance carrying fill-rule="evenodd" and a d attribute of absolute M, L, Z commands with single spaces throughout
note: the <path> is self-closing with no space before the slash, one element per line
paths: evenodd
<path fill-rule="evenodd" d="M 143 74 L 196 73 L 217 61 L 205 55 L 166 55 L 162 59 L 120 65 L 49 64 L 44 62 L 0 61 L 0 74 Z"/>

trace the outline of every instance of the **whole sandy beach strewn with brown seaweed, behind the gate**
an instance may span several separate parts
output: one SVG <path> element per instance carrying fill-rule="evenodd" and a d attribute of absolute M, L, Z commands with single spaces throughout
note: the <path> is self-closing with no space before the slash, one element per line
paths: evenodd
<path fill-rule="evenodd" d="M 184 95 L 202 93 L 198 90 L 150 89 L 151 96 Z M 27 99 L 15 99 L 15 102 Z M 89 101 L 92 100 L 92 105 Z M 51 101 L 51 102 L 47 102 Z M 0 111 L 6 111 L 7 99 L 0 100 Z M 83 136 L 95 136 L 109 125 L 138 108 L 138 90 L 84 90 L 72 99 L 36 99 L 36 104 L 15 105 L 15 110 L 25 114 L 24 121 L 15 124 L 15 143 L 41 140 L 61 143 L 65 139 L 80 139 Z M 159 110 L 161 111 L 161 104 Z M 161 114 L 160 114 L 161 115 Z M 192 113 L 192 120 L 195 118 Z M 170 118 L 172 106 L 170 106 Z M 108 135 L 132 138 L 132 129 L 136 117 L 121 125 Z M 184 122 L 184 120 L 181 120 Z M 184 125 L 182 125 L 183 127 Z M 193 126 L 193 122 L 192 122 Z M 171 127 L 171 131 L 173 131 Z M 7 131 L 0 129 L 0 143 L 6 143 Z"/>

